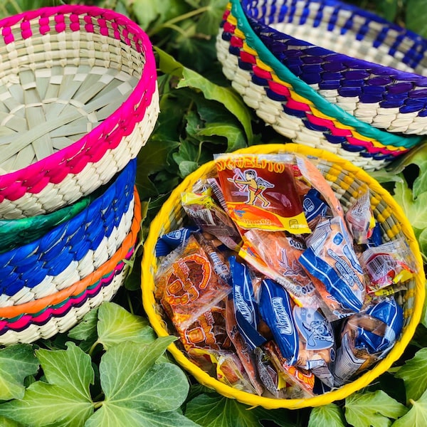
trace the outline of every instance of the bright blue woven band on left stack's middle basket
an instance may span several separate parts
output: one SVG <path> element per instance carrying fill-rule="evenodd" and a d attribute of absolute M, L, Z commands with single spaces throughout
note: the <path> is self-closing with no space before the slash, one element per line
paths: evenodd
<path fill-rule="evenodd" d="M 47 276 L 61 273 L 70 263 L 95 251 L 109 237 L 130 208 L 135 185 L 136 159 L 103 186 L 80 214 L 53 228 L 37 241 L 0 254 L 0 292 L 14 295 L 33 288 Z M 6 274 L 7 273 L 7 274 Z"/>

